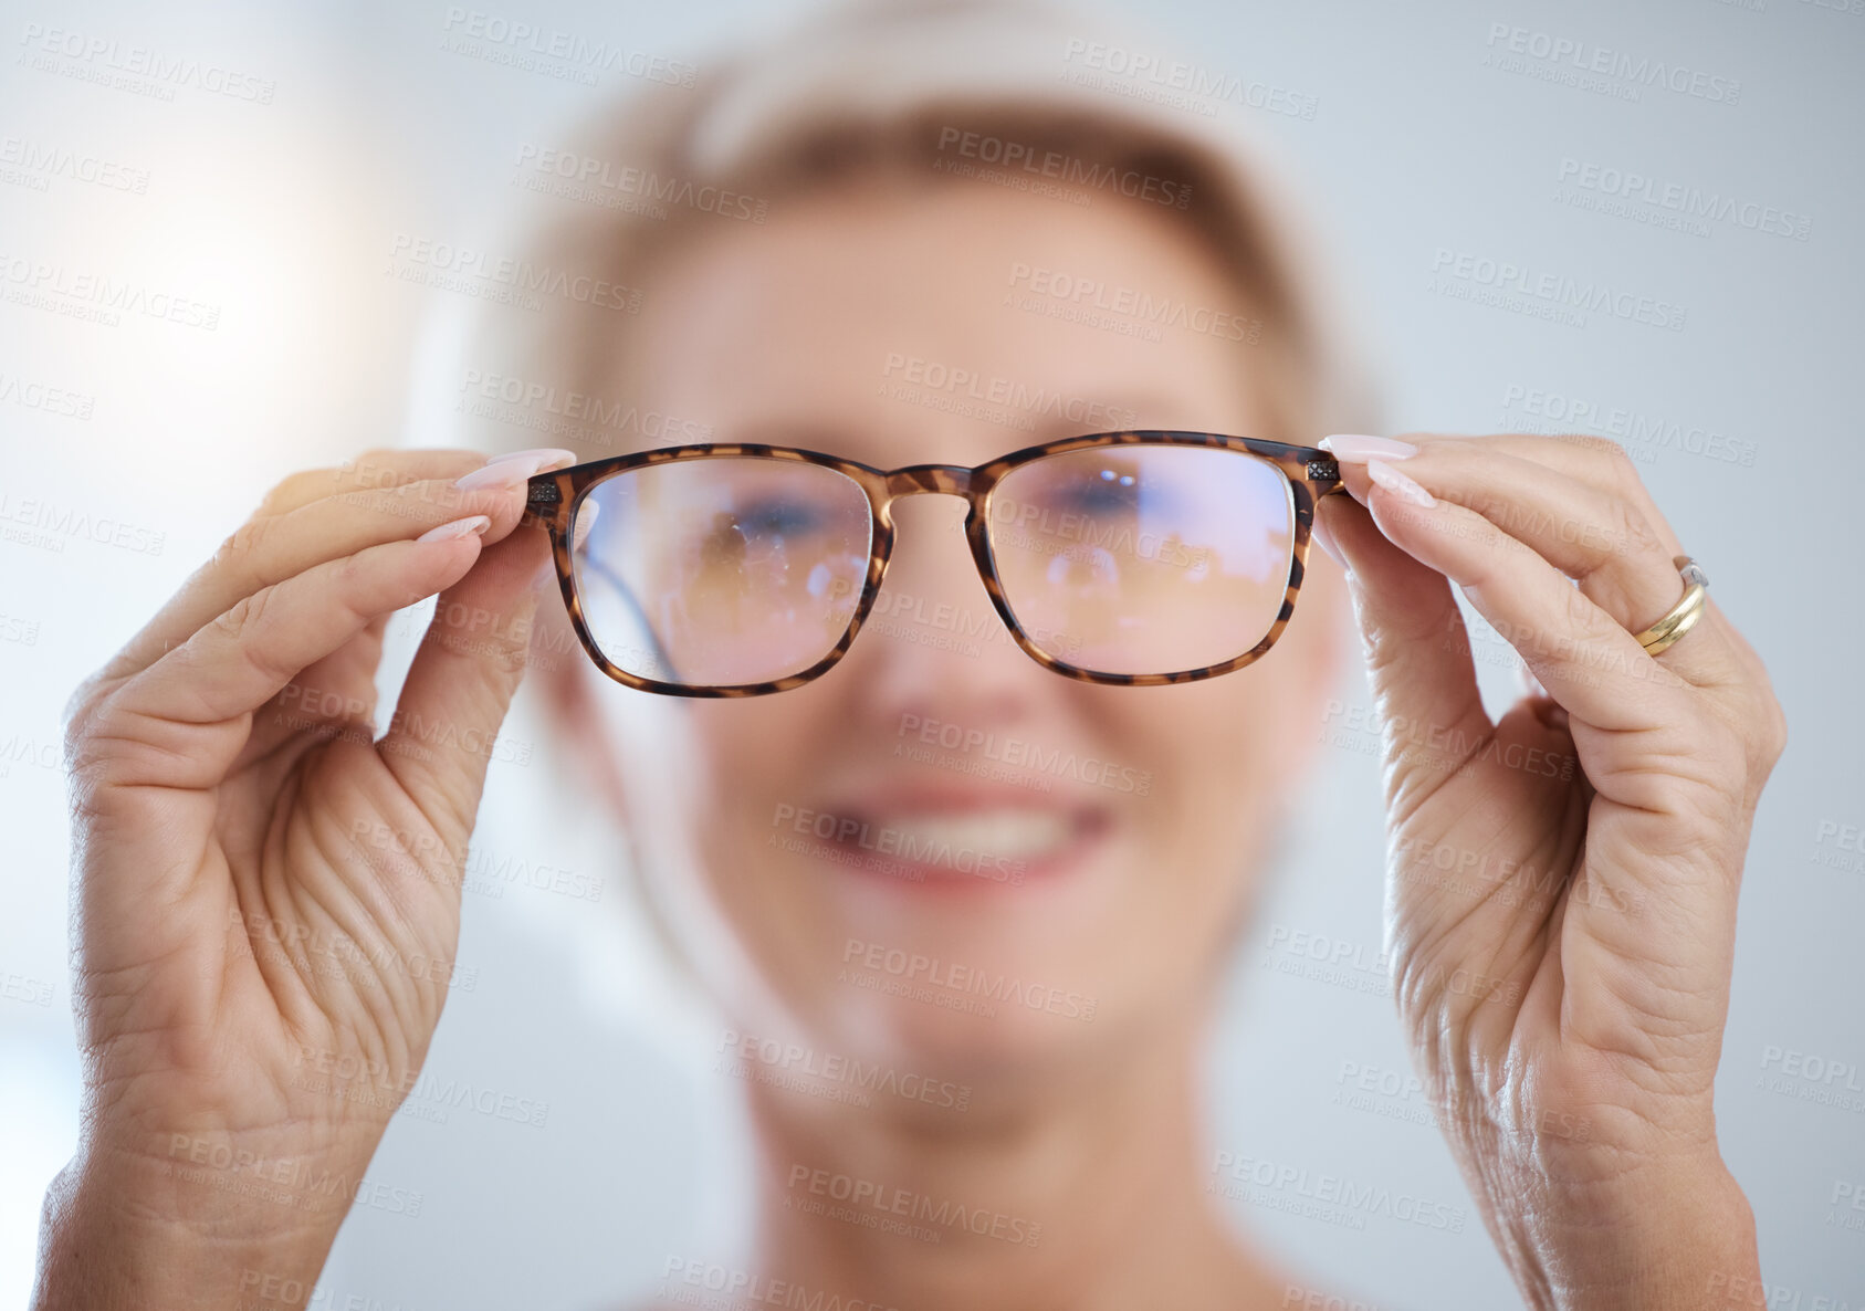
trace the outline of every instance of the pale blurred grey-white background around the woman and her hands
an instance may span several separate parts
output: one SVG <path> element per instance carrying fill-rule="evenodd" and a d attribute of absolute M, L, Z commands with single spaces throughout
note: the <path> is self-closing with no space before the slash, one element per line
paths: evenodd
<path fill-rule="evenodd" d="M 502 19 L 696 63 L 793 9 L 498 4 Z M 1865 1087 L 1865 533 L 1850 504 L 1865 479 L 1859 2 L 1143 9 L 1160 48 L 1313 103 L 1313 117 L 1223 112 L 1259 119 L 1306 172 L 1382 347 L 1393 431 L 1654 435 L 1630 442 L 1647 483 L 1761 649 L 1792 725 L 1742 891 L 1723 1149 L 1755 1203 L 1772 1305 L 1865 1305 L 1865 1212 L 1833 1201 L 1844 1184 L 1865 1192 L 1865 1095 L 1844 1093 Z M 621 73 L 589 88 L 453 52 L 449 13 L 362 0 L 0 4 L 4 1305 L 26 1298 L 39 1197 L 76 1141 L 65 696 L 280 476 L 403 442 L 410 416 L 446 408 L 451 395 L 421 392 L 433 371 L 420 366 L 436 319 L 457 310 L 440 302 L 457 297 L 384 276 L 392 239 L 483 231 L 515 194 L 518 147 L 556 140 L 595 97 L 625 90 Z M 1511 63 L 1514 30 L 1527 35 Z M 160 93 L 110 84 L 112 56 L 88 54 L 93 39 L 231 78 Z M 1535 58 L 1552 41 L 1740 93 L 1578 90 Z M 1660 203 L 1673 186 L 1733 205 L 1680 216 Z M 1485 259 L 1678 306 L 1682 328 L 1481 304 L 1481 282 L 1458 269 Z M 194 308 L 177 321 L 86 321 L 69 313 L 73 297 L 47 304 L 43 267 L 67 287 L 101 276 Z M 200 326 L 209 313 L 214 326 Z M 75 517 L 114 528 L 71 531 Z M 1498 656 L 1485 677 L 1507 694 L 1499 649 L 1479 655 Z M 1317 724 L 1335 746 L 1311 800 L 1320 843 L 1283 860 L 1238 957 L 1212 1141 L 1404 1180 L 1470 1216 L 1460 1235 L 1246 1218 L 1315 1283 L 1378 1307 L 1514 1305 L 1417 1100 L 1341 1097 L 1343 1070 L 1406 1069 L 1391 1003 L 1274 970 L 1287 955 L 1278 927 L 1367 955 L 1380 942 L 1376 735 L 1363 681 L 1337 696 L 1332 722 Z M 515 714 L 509 733 L 535 742 L 533 709 Z M 612 845 L 587 826 L 539 843 L 552 832 L 548 785 L 541 763 L 492 766 L 489 860 L 522 843 L 535 865 L 614 871 Z M 716 1197 L 742 1162 L 737 1085 L 712 1070 L 718 1029 L 645 964 L 627 906 L 614 886 L 601 901 L 522 878 L 496 897 L 468 893 L 461 959 L 477 983 L 449 1003 L 431 1069 L 546 1102 L 548 1119 L 397 1117 L 371 1175 L 421 1192 L 421 1214 L 354 1214 L 319 1305 L 593 1307 L 651 1290 L 670 1255 L 729 1255 L 737 1218 Z M 1839 1072 L 1787 1076 L 1789 1052 Z"/>

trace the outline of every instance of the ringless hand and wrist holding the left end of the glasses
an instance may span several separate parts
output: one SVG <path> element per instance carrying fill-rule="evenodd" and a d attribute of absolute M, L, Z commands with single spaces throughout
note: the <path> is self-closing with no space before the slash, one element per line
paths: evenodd
<path fill-rule="evenodd" d="M 308 1290 L 351 1203 L 388 1195 L 364 1169 L 446 1003 L 548 559 L 515 531 L 524 479 L 567 462 L 297 474 L 71 699 L 86 1106 L 39 1305 Z M 377 740 L 388 617 L 436 593 Z"/>

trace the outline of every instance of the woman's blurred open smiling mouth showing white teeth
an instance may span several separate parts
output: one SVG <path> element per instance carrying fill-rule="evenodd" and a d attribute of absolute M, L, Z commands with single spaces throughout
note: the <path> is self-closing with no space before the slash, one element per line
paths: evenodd
<path fill-rule="evenodd" d="M 1108 830 L 1098 807 L 972 804 L 843 811 L 817 843 L 850 873 L 927 888 L 1020 888 L 1082 865 Z"/>

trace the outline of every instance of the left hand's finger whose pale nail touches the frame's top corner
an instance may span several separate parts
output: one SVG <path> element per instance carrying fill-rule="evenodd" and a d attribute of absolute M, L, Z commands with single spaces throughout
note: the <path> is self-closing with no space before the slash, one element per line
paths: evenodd
<path fill-rule="evenodd" d="M 155 664 L 241 597 L 283 582 L 326 559 L 366 546 L 420 537 L 470 515 L 492 520 L 487 543 L 500 541 L 524 515 L 524 479 L 537 459 L 498 461 L 470 472 L 476 487 L 455 479 L 405 481 L 382 490 L 347 490 L 278 515 L 246 520 L 166 606 L 104 668 L 116 679 Z"/>

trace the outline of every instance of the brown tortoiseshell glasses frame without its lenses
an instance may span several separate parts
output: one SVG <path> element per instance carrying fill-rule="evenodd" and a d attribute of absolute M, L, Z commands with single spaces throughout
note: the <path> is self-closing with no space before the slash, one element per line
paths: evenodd
<path fill-rule="evenodd" d="M 1294 543 L 1289 556 L 1289 584 L 1276 621 L 1257 645 L 1231 660 L 1199 669 L 1179 669 L 1173 673 L 1102 673 L 1056 658 L 1054 655 L 1043 651 L 1024 632 L 1003 597 L 1003 587 L 998 582 L 996 561 L 990 552 L 990 492 L 1005 474 L 1028 464 L 1029 461 L 1097 446 L 1220 448 L 1225 451 L 1238 451 L 1242 455 L 1255 455 L 1281 470 L 1289 483 L 1289 500 L 1294 522 Z M 867 494 L 869 515 L 873 518 L 867 576 L 854 612 L 850 614 L 849 628 L 843 632 L 841 642 L 837 642 L 836 647 L 813 666 L 802 669 L 800 673 L 791 673 L 768 683 L 688 686 L 683 683 L 664 683 L 638 673 L 629 673 L 602 655 L 602 649 L 589 632 L 582 602 L 576 595 L 576 573 L 571 559 L 571 526 L 574 524 L 578 502 L 584 492 L 597 483 L 627 470 L 668 464 L 673 461 L 707 461 L 727 457 L 763 457 L 819 464 L 822 468 L 832 468 L 837 474 L 845 474 Z M 873 468 L 871 464 L 862 464 L 858 461 L 847 461 L 836 455 L 822 455 L 821 451 L 804 451 L 787 446 L 701 442 L 692 446 L 668 446 L 651 451 L 636 451 L 632 455 L 614 455 L 556 470 L 552 474 L 537 474 L 528 485 L 526 518 L 528 522 L 541 524 L 550 535 L 550 554 L 558 569 L 558 586 L 563 591 L 563 604 L 569 610 L 571 625 L 576 628 L 576 640 L 582 642 L 584 651 L 589 653 L 589 658 L 595 660 L 602 673 L 615 679 L 615 683 L 642 692 L 692 697 L 765 696 L 768 692 L 787 692 L 789 688 L 802 686 L 804 683 L 828 673 L 828 669 L 832 669 L 836 662 L 847 655 L 849 647 L 854 643 L 854 636 L 862 630 L 862 623 L 867 619 L 875 599 L 880 595 L 880 582 L 888 569 L 888 558 L 893 552 L 893 502 L 901 496 L 918 496 L 921 492 L 964 496 L 968 500 L 970 507 L 964 520 L 964 533 L 972 545 L 972 559 L 977 565 L 977 573 L 985 582 L 985 591 L 990 595 L 990 604 L 996 608 L 998 617 L 1003 619 L 1011 638 L 1031 660 L 1063 675 L 1065 679 L 1076 679 L 1080 683 L 1098 683 L 1106 686 L 1164 686 L 1173 683 L 1197 683 L 1199 679 L 1214 679 L 1220 673 L 1242 669 L 1246 664 L 1259 660 L 1270 647 L 1276 645 L 1276 638 L 1279 638 L 1281 630 L 1289 627 L 1289 617 L 1294 614 L 1296 593 L 1302 589 L 1302 576 L 1307 569 L 1309 530 L 1315 522 L 1315 505 L 1322 496 L 1330 496 L 1339 490 L 1345 490 L 1341 470 L 1335 464 L 1333 455 L 1328 451 L 1313 446 L 1291 446 L 1287 442 L 1264 442 L 1251 436 L 1223 436 L 1218 433 L 1179 433 L 1158 429 L 1091 433 L 1087 436 L 1067 436 L 1056 442 L 1044 442 L 1043 446 L 1026 446 L 1020 451 L 1011 451 L 1009 455 L 1002 455 L 988 464 L 979 464 L 977 468 L 964 468 L 962 464 L 910 464 L 906 468 L 893 470 Z"/>

